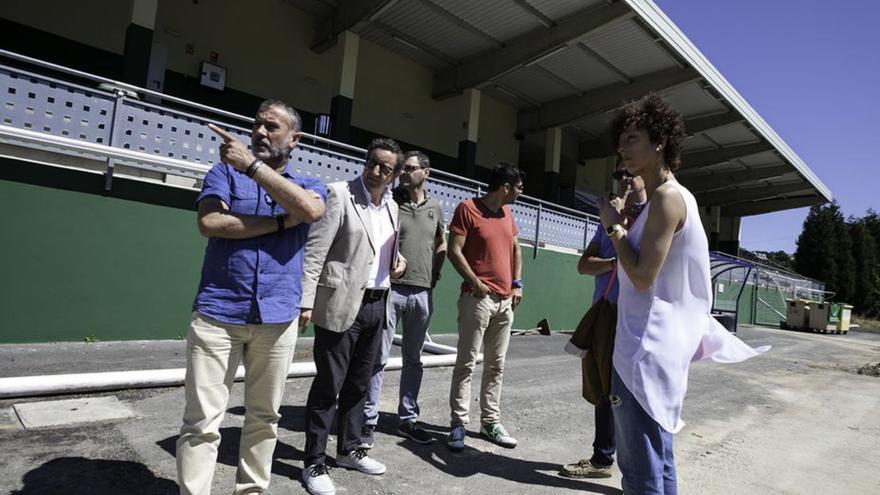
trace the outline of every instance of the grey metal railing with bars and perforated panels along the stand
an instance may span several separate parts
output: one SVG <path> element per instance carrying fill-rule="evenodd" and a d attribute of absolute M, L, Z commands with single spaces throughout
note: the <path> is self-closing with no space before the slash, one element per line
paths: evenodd
<path fill-rule="evenodd" d="M 118 165 L 192 179 L 190 187 L 198 188 L 219 156 L 208 123 L 250 141 L 251 117 L 5 50 L 0 59 L 17 64 L 0 64 L 0 141 L 103 162 L 107 189 Z M 363 148 L 302 136 L 291 157 L 298 173 L 324 182 L 361 173 Z M 458 203 L 485 191 L 485 183 L 441 170 L 432 170 L 428 185 L 447 223 Z M 511 210 L 535 254 L 539 246 L 582 250 L 598 225 L 595 216 L 525 195 Z"/>

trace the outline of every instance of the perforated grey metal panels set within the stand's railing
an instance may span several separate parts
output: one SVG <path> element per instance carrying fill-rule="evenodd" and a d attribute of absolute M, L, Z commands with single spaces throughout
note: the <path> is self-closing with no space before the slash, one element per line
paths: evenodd
<path fill-rule="evenodd" d="M 3 125 L 144 153 L 143 160 L 131 164 L 160 174 L 195 179 L 204 176 L 207 169 L 218 161 L 222 142 L 208 129 L 209 122 L 245 143 L 250 142 L 250 131 L 245 127 L 5 66 L 0 66 L 0 95 Z M 247 125 L 246 118 L 241 120 Z M 84 156 L 75 151 L 70 153 Z M 300 143 L 292 159 L 297 173 L 329 183 L 350 180 L 362 173 L 363 157 L 354 156 L 359 153 L 357 151 L 351 153 Z M 198 163 L 204 168 L 173 169 L 151 162 L 149 155 Z M 101 159 L 91 155 L 89 158 Z M 115 160 L 116 163 L 128 163 Z M 150 163 L 153 163 L 152 168 Z M 449 180 L 432 177 L 428 193 L 440 202 L 444 219 L 449 223 L 459 203 L 481 193 L 478 187 L 467 179 L 454 176 Z M 520 238 L 535 241 L 538 233 L 538 242 L 546 245 L 582 249 L 596 228 L 592 220 L 532 203 L 519 202 L 512 205 L 511 210 Z"/>

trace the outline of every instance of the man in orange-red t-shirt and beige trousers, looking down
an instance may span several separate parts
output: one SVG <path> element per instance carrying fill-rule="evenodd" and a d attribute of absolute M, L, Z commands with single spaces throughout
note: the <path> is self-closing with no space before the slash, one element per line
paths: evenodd
<path fill-rule="evenodd" d="M 471 402 L 471 375 L 485 347 L 480 384 L 480 436 L 516 447 L 501 425 L 501 378 L 510 343 L 513 310 L 522 301 L 522 252 L 507 205 L 523 192 L 525 174 L 499 163 L 489 176 L 488 192 L 459 203 L 449 226 L 449 261 L 464 279 L 458 298 L 458 355 L 449 392 L 452 429 L 446 445 L 464 449 Z"/>

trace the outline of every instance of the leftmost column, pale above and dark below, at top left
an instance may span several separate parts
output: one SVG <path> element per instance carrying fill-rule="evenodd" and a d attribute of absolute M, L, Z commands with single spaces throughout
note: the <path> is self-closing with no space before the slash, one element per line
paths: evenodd
<path fill-rule="evenodd" d="M 122 54 L 122 78 L 125 82 L 148 86 L 150 57 L 153 49 L 153 29 L 159 0 L 132 0 L 131 23 L 125 29 L 125 47 Z"/>

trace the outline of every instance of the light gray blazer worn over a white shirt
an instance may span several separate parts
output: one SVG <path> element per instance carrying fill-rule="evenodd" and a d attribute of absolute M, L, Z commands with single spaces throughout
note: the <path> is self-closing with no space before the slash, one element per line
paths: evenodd
<path fill-rule="evenodd" d="M 324 217 L 309 228 L 302 278 L 302 308 L 312 309 L 312 322 L 344 332 L 357 317 L 376 249 L 367 228 L 369 198 L 361 178 L 327 186 Z M 397 203 L 388 201 L 394 231 L 399 230 Z M 391 297 L 385 309 L 391 314 Z"/>

